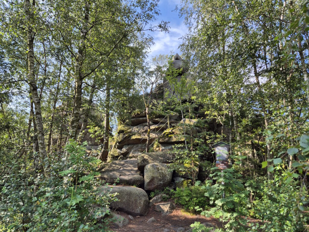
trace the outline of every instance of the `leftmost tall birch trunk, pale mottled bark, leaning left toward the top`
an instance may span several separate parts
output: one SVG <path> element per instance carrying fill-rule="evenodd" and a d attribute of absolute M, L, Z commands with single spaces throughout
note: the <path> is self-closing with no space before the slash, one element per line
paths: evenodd
<path fill-rule="evenodd" d="M 35 1 L 33 1 L 33 6 L 35 5 Z M 25 0 L 25 13 L 27 17 L 27 21 L 29 25 L 31 25 L 33 19 L 33 12 L 30 10 L 32 6 L 30 5 L 29 0 Z M 38 136 L 38 144 L 40 151 L 40 160 L 43 164 L 43 160 L 46 157 L 46 147 L 45 147 L 45 137 L 44 137 L 44 127 L 43 127 L 43 119 L 41 114 L 41 102 L 37 91 L 36 79 L 34 75 L 34 50 L 33 50 L 33 41 L 34 41 L 34 32 L 32 31 L 32 27 L 28 26 L 28 84 L 30 87 L 30 93 L 32 96 L 32 101 L 34 104 L 34 112 L 35 112 L 35 121 L 37 127 L 37 136 Z"/>

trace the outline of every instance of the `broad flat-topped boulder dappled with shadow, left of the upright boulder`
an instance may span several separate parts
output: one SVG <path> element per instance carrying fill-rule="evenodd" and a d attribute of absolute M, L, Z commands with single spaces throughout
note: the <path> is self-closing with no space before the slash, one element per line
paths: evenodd
<path fill-rule="evenodd" d="M 144 183 L 137 168 L 137 159 L 112 161 L 100 172 L 100 178 L 107 183 L 114 183 L 119 178 L 119 184 L 140 186 Z"/>

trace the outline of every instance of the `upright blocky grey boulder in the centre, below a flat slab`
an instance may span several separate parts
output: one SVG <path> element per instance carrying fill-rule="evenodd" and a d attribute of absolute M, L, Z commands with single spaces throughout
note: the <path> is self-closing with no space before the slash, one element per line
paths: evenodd
<path fill-rule="evenodd" d="M 162 190 L 171 183 L 172 171 L 166 164 L 147 164 L 144 169 L 144 189 L 154 191 Z"/>

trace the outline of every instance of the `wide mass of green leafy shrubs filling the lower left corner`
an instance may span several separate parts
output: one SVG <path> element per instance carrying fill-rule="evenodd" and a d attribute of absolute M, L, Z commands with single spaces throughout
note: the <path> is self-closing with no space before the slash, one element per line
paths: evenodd
<path fill-rule="evenodd" d="M 85 150 L 70 140 L 66 158 L 45 167 L 47 177 L 40 173 L 33 177 L 11 165 L 0 179 L 0 231 L 104 231 L 108 221 L 100 224 L 98 219 L 115 198 L 108 191 L 99 196 L 97 160 Z"/>

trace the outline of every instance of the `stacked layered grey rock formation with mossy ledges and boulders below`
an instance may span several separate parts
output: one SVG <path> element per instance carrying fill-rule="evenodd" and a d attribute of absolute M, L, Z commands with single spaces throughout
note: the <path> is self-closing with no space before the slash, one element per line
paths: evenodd
<path fill-rule="evenodd" d="M 180 77 L 185 75 L 187 69 L 178 54 L 172 64 L 181 70 Z M 169 84 L 164 83 L 164 91 L 167 91 L 167 88 L 170 88 Z M 154 101 L 163 101 L 163 94 L 156 95 Z M 149 207 L 147 194 L 151 191 L 163 190 L 166 187 L 173 189 L 176 186 L 183 188 L 191 184 L 190 176 L 177 174 L 169 165 L 175 158 L 175 154 L 170 151 L 175 144 L 179 144 L 180 149 L 184 148 L 185 140 L 192 142 L 194 149 L 195 140 L 205 141 L 205 133 L 210 132 L 213 127 L 201 123 L 204 122 L 203 118 L 198 115 L 203 113 L 195 114 L 195 119 L 182 120 L 180 112 L 175 111 L 150 115 L 149 153 L 145 151 L 148 131 L 146 113 L 133 113 L 129 120 L 119 122 L 108 154 L 109 163 L 102 167 L 99 175 L 105 183 L 113 184 L 118 179 L 112 192 L 118 193 L 119 201 L 113 202 L 111 208 L 132 215 L 145 215 Z M 185 136 L 183 123 L 190 128 L 186 129 Z M 150 205 L 156 203 L 158 202 L 153 200 Z M 164 214 L 171 213 L 174 207 L 170 202 L 156 205 L 157 210 Z"/>

